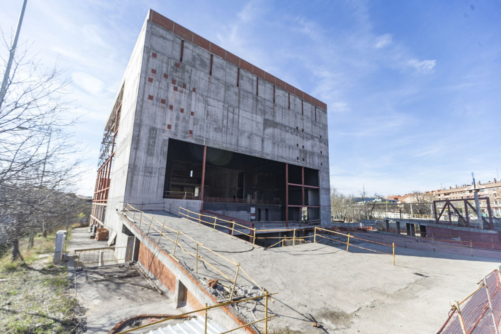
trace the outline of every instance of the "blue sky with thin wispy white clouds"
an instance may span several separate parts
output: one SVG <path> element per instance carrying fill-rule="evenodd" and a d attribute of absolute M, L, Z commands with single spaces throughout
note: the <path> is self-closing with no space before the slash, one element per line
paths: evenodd
<path fill-rule="evenodd" d="M 16 28 L 22 1 L 0 5 Z M 405 194 L 498 179 L 501 3 L 29 0 L 20 41 L 72 79 L 92 195 L 108 114 L 148 9 L 327 103 L 331 187 Z"/>

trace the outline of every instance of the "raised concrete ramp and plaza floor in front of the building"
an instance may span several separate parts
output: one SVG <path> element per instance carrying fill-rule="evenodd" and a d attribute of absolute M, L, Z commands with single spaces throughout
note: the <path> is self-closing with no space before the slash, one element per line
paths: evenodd
<path fill-rule="evenodd" d="M 270 303 L 270 310 L 278 315 L 270 323 L 273 330 L 436 332 L 447 318 L 449 302 L 464 299 L 481 278 L 499 265 L 485 258 L 405 248 L 397 248 L 395 266 L 390 255 L 354 247 L 346 252 L 346 246 L 311 243 L 265 250 L 195 222 L 166 213 L 153 214 L 173 230 L 184 231 L 204 246 L 240 262 L 261 286 L 278 292 Z M 144 233 L 147 229 L 142 224 Z M 175 240 L 176 233 L 164 233 Z M 158 240 L 159 233 L 154 229 L 148 235 Z M 185 251 L 195 252 L 192 240 L 181 235 L 179 242 Z M 174 244 L 165 237 L 160 243 L 173 252 Z M 203 249 L 199 254 L 218 264 L 227 276 L 234 276 L 236 266 Z M 177 249 L 176 257 L 194 271 L 193 256 Z M 209 269 L 199 264 L 199 277 L 221 278 Z M 252 284 L 243 276 L 237 283 L 244 288 Z M 263 316 L 259 305 L 253 313 L 256 318 Z M 254 320 L 252 314 L 247 317 Z M 314 328 L 313 322 L 320 322 L 323 329 Z"/>

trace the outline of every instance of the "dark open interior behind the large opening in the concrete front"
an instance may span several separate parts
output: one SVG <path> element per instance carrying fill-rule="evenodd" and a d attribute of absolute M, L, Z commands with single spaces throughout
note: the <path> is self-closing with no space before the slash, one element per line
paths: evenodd
<path fill-rule="evenodd" d="M 211 147 L 204 168 L 203 151 L 202 145 L 169 139 L 164 198 L 200 199 L 205 172 L 205 210 L 227 214 L 252 206 L 256 221 L 320 218 L 318 170 Z"/>

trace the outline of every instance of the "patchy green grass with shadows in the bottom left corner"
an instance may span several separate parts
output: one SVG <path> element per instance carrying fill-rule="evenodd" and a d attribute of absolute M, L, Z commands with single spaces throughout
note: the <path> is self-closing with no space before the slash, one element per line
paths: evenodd
<path fill-rule="evenodd" d="M 29 251 L 25 245 L 20 242 L 26 262 L 0 259 L 0 332 L 82 333 L 85 311 L 70 293 L 67 267 L 39 257 L 52 253 L 54 237 L 37 237 Z"/>

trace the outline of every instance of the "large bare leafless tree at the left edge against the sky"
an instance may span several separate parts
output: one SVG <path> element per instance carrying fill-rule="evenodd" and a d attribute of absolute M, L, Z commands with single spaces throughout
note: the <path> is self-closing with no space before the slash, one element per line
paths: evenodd
<path fill-rule="evenodd" d="M 3 37 L 4 68 L 9 46 Z M 12 246 L 14 259 L 22 258 L 20 237 L 42 228 L 75 180 L 67 85 L 61 71 L 39 65 L 27 49 L 14 58 L 0 104 L 0 232 L 6 233 L 0 242 Z"/>

